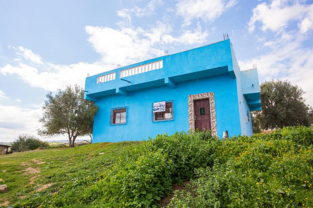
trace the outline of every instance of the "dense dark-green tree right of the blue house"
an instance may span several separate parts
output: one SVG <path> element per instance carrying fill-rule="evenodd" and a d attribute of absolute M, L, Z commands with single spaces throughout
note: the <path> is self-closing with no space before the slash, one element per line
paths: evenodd
<path fill-rule="evenodd" d="M 287 80 L 271 80 L 261 83 L 260 90 L 262 110 L 252 114 L 255 125 L 261 129 L 309 125 L 310 107 L 305 104 L 301 87 Z"/>

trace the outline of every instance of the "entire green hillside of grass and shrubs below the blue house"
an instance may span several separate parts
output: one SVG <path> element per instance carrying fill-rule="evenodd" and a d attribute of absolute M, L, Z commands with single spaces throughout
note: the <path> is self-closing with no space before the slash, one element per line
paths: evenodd
<path fill-rule="evenodd" d="M 12 207 L 311 207 L 312 144 L 311 128 L 289 127 L 21 152 L 0 157 L 9 188 L 0 198 Z"/>

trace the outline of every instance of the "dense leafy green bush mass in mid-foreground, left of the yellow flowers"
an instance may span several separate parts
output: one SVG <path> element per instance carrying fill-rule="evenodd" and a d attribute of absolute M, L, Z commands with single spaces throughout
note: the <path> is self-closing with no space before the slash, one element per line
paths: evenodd
<path fill-rule="evenodd" d="M 93 200 L 94 196 L 101 198 L 98 204 L 105 207 L 156 207 L 173 183 L 189 180 L 194 168 L 211 165 L 218 140 L 207 134 L 178 132 L 149 139 L 116 163 L 103 182 L 79 200 L 88 203 L 91 195 Z"/>

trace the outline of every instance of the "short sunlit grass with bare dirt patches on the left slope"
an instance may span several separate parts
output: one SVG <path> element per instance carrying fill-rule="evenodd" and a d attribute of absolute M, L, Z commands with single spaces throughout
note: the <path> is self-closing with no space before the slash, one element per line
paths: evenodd
<path fill-rule="evenodd" d="M 0 204 L 5 201 L 14 204 L 20 198 L 38 194 L 36 190 L 50 183 L 51 187 L 40 191 L 42 195 L 49 195 L 65 185 L 83 179 L 86 180 L 86 186 L 91 186 L 103 170 L 138 143 L 140 142 L 96 143 L 0 156 L 0 178 L 3 179 L 0 184 L 6 184 L 9 190 L 0 193 Z M 100 152 L 104 154 L 99 155 Z M 39 164 L 40 162 L 44 163 Z M 29 173 L 27 168 L 40 172 Z"/>

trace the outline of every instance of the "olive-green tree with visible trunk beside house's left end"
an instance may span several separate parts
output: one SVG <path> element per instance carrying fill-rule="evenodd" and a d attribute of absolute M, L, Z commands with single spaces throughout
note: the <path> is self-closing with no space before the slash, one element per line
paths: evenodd
<path fill-rule="evenodd" d="M 75 139 L 92 133 L 94 116 L 98 106 L 84 99 L 81 87 L 67 86 L 65 90 L 58 89 L 55 95 L 49 92 L 43 106 L 43 124 L 38 134 L 43 136 L 68 135 L 69 147 L 74 147 Z"/>

